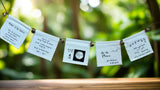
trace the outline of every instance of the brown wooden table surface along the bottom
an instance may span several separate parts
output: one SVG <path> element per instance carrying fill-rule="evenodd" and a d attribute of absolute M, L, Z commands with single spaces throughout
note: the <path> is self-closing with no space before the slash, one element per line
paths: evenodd
<path fill-rule="evenodd" d="M 160 90 L 160 78 L 0 80 L 0 90 Z"/>

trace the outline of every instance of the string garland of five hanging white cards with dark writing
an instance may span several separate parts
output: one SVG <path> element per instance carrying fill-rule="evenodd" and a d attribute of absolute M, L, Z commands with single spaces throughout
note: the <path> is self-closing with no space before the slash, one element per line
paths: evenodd
<path fill-rule="evenodd" d="M 2 2 L 2 1 L 1 1 Z M 4 6 L 4 5 L 3 5 Z M 4 7 L 5 8 L 5 7 Z M 51 61 L 59 41 L 64 43 L 63 62 L 88 65 L 90 47 L 95 46 L 97 66 L 122 65 L 121 45 L 124 44 L 130 61 L 138 60 L 153 53 L 146 32 L 149 28 L 132 36 L 116 41 L 91 42 L 85 40 L 59 38 L 36 30 L 6 13 L 8 16 L 1 27 L 0 38 L 16 48 L 20 48 L 31 31 L 34 35 L 27 52 Z"/>

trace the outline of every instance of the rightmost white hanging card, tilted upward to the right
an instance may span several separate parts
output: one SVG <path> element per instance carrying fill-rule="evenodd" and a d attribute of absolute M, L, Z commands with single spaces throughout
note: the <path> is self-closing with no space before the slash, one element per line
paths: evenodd
<path fill-rule="evenodd" d="M 152 47 L 144 30 L 123 39 L 123 42 L 131 61 L 135 61 L 153 53 Z"/>

